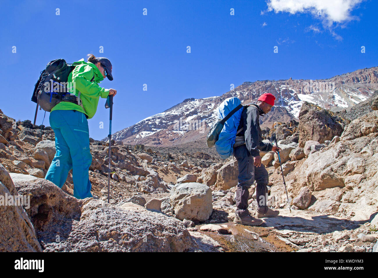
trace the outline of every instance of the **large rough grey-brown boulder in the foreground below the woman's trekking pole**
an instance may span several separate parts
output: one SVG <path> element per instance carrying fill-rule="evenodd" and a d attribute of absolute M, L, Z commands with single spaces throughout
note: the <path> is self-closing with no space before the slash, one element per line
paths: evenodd
<path fill-rule="evenodd" d="M 93 199 L 79 203 L 80 221 L 65 230 L 67 238 L 46 243 L 45 252 L 183 252 L 195 247 L 174 217 L 135 204 L 120 208 Z"/>

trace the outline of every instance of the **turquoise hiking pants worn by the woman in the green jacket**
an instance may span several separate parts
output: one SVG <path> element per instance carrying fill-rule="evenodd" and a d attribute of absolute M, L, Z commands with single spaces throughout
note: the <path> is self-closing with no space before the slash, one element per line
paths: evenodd
<path fill-rule="evenodd" d="M 56 154 L 45 179 L 62 188 L 68 172 L 73 169 L 73 196 L 77 199 L 93 197 L 88 172 L 92 155 L 85 114 L 75 110 L 54 110 L 50 113 L 50 126 L 55 132 Z"/>

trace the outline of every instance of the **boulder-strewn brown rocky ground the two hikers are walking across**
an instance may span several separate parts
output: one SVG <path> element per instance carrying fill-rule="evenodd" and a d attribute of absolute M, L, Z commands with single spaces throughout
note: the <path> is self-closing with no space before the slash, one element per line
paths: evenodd
<path fill-rule="evenodd" d="M 71 174 L 63 190 L 42 179 L 55 152 L 53 130 L 0 113 L 0 202 L 5 194 L 30 198 L 29 206 L 0 206 L 0 226 L 8 227 L 0 250 L 376 252 L 377 102 L 375 93 L 357 104 L 355 119 L 304 103 L 299 122 L 263 129 L 265 138 L 277 134 L 283 165 L 281 172 L 277 154 L 260 153 L 269 204 L 280 211 L 260 227 L 232 222 L 237 162 L 202 144 L 115 142 L 107 203 L 108 146 L 90 140 L 95 198 L 77 200 Z M 248 203 L 253 213 L 254 185 Z"/>

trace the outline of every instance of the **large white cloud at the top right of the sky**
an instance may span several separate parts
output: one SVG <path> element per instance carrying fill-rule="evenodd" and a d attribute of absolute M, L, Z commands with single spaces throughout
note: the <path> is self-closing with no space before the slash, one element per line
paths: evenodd
<path fill-rule="evenodd" d="M 341 40 L 342 37 L 333 31 L 333 28 L 341 23 L 357 19 L 351 16 L 350 12 L 364 0 L 268 0 L 267 11 L 289 12 L 296 13 L 310 13 L 316 19 L 322 21 L 325 29 L 328 29 L 333 37 Z M 262 12 L 262 14 L 264 14 Z M 321 33 L 316 26 L 309 26 L 307 30 L 312 30 L 315 33 Z"/>

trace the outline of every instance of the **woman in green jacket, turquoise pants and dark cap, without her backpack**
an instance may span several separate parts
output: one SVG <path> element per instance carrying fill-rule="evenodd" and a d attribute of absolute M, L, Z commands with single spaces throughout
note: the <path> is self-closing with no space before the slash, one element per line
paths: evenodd
<path fill-rule="evenodd" d="M 114 89 L 104 89 L 98 85 L 106 77 L 113 80 L 110 61 L 104 57 L 96 58 L 93 54 L 88 56 L 88 62 L 84 62 L 84 59 L 75 62 L 76 67 L 68 76 L 68 82 L 73 82 L 75 92 L 71 89 L 71 94 L 66 94 L 50 113 L 56 154 L 46 179 L 61 188 L 68 172 L 73 169 L 73 195 L 77 199 L 93 197 L 88 172 L 92 155 L 87 119 L 95 115 L 100 97 L 107 98 L 117 93 Z"/>

